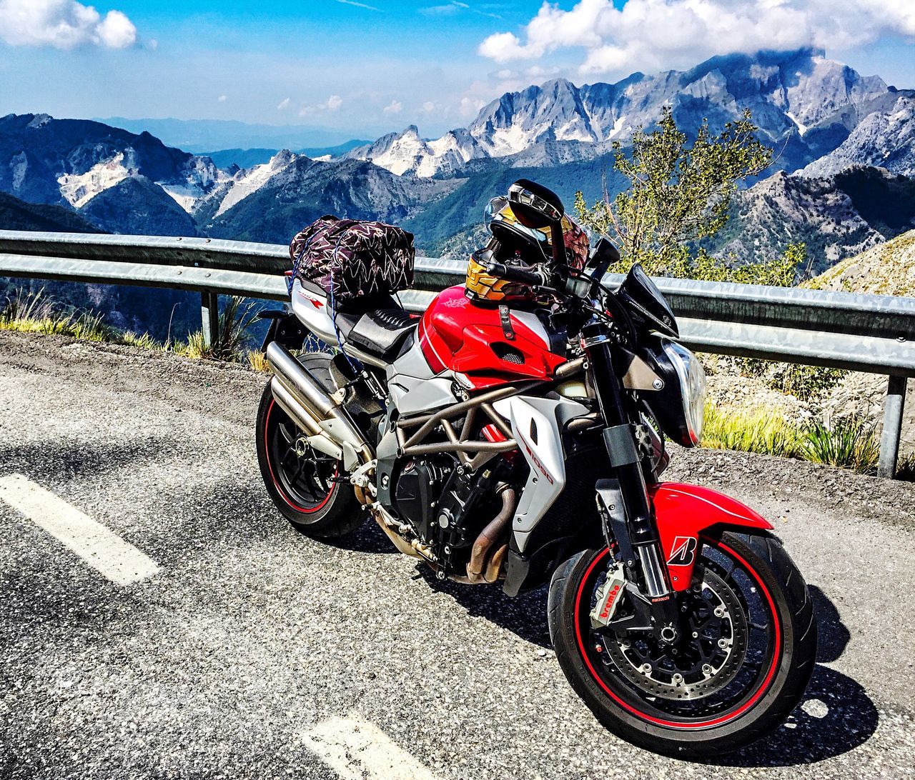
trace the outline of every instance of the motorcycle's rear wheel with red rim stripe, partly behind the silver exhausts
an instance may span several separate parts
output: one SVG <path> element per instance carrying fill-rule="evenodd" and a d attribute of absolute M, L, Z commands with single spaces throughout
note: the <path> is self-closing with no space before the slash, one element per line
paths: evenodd
<path fill-rule="evenodd" d="M 330 356 L 308 354 L 298 358 L 328 392 Z M 336 539 L 359 528 L 365 519 L 352 487 L 334 481 L 343 465 L 332 457 L 304 448 L 296 423 L 274 401 L 270 382 L 257 410 L 257 462 L 264 486 L 274 505 L 296 530 L 315 539 Z M 299 450 L 296 453 L 296 440 Z"/>

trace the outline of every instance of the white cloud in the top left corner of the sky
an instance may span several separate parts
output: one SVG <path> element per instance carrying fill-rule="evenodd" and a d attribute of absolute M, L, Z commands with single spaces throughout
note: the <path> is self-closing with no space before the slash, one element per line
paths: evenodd
<path fill-rule="evenodd" d="M 136 27 L 120 11 L 105 16 L 75 0 L 0 0 L 0 40 L 13 46 L 127 48 Z"/>

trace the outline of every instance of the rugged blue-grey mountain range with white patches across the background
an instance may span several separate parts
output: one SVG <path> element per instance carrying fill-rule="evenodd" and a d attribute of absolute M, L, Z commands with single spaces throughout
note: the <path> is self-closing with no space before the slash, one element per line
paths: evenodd
<path fill-rule="evenodd" d="M 413 230 L 426 254 L 460 256 L 479 242 L 486 202 L 515 178 L 537 179 L 567 204 L 576 190 L 588 200 L 605 185 L 618 191 L 614 142 L 651 128 L 664 106 L 687 132 L 705 118 L 720 129 L 748 108 L 774 150 L 769 177 L 735 198 L 714 251 L 752 261 L 807 240 L 825 267 L 912 227 L 915 91 L 809 48 L 612 84 L 550 80 L 502 95 L 440 138 L 411 125 L 324 155 L 230 150 L 214 161 L 146 131 L 11 114 L 0 119 L 0 192 L 124 233 L 285 243 L 326 213 L 383 219 Z"/>

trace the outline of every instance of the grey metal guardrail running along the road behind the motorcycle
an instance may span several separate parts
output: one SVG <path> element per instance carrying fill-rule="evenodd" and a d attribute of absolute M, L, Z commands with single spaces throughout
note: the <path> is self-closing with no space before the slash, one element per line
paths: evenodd
<path fill-rule="evenodd" d="M 285 246 L 217 239 L 0 230 L 0 276 L 168 287 L 201 294 L 207 337 L 219 294 L 284 300 Z M 422 311 L 464 279 L 463 262 L 416 258 L 404 305 Z M 610 286 L 622 277 L 610 275 Z M 915 377 L 915 298 L 656 279 L 684 344 L 744 358 L 888 374 L 878 473 L 895 474 L 907 380 Z"/>

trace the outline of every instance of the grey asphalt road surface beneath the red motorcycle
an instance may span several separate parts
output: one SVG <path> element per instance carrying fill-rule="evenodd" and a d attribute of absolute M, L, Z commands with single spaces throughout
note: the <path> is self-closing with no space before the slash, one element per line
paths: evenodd
<path fill-rule="evenodd" d="M 915 775 L 915 486 L 675 454 L 672 476 L 775 522 L 822 637 L 785 727 L 688 764 L 599 726 L 555 662 L 544 593 L 440 586 L 369 524 L 338 546 L 287 526 L 254 455 L 263 380 L 0 334 L 0 478 L 157 566 L 113 582 L 0 501 L 0 776 L 375 776 L 360 755 L 417 778 Z"/>

